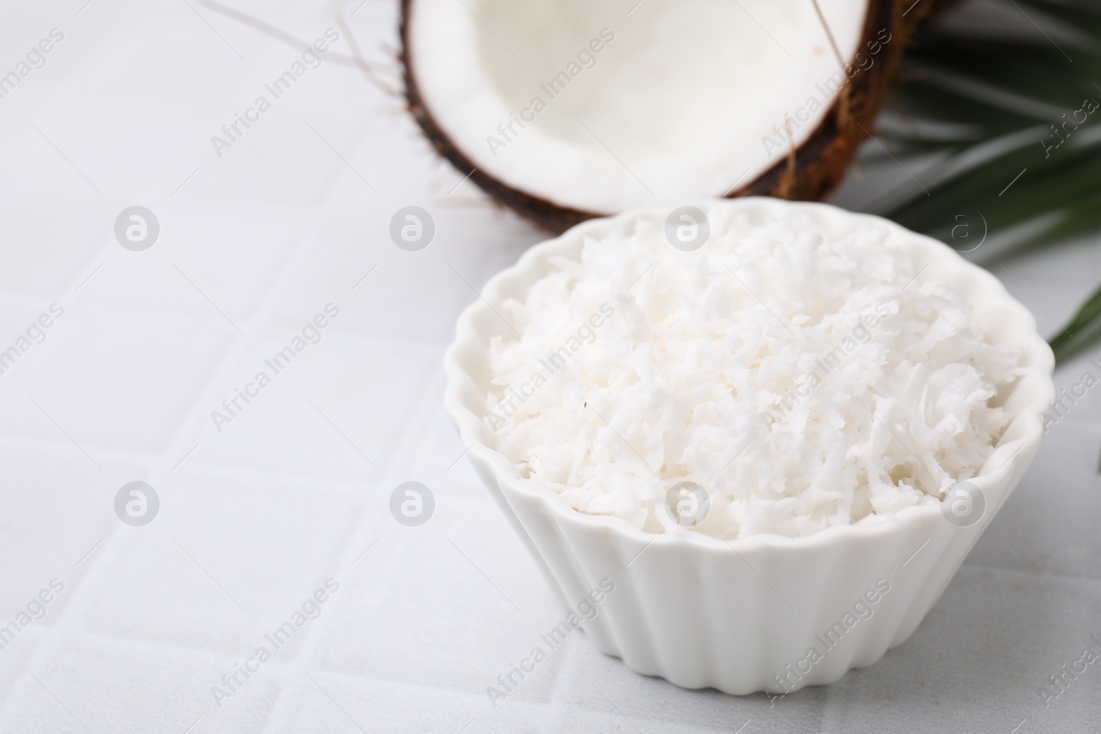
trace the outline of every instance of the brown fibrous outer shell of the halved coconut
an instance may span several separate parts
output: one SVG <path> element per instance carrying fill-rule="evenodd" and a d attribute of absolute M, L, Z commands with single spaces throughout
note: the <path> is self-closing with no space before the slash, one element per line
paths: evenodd
<path fill-rule="evenodd" d="M 436 152 L 494 199 L 552 232 L 562 232 L 586 219 L 611 213 L 563 207 L 476 169 L 444 132 L 421 97 L 410 63 L 408 11 L 412 1 L 402 0 L 400 26 L 405 98 L 410 113 Z M 869 0 L 859 47 L 865 47 L 866 42 L 874 40 L 882 29 L 891 33 L 891 41 L 882 44 L 875 64 L 866 70 L 859 70 L 846 83 L 826 117 L 803 145 L 789 151 L 784 160 L 727 196 L 773 196 L 807 201 L 829 196 L 844 177 L 857 149 L 871 134 L 891 78 L 917 25 L 935 4 L 950 1 Z"/>

